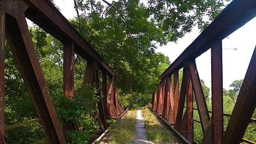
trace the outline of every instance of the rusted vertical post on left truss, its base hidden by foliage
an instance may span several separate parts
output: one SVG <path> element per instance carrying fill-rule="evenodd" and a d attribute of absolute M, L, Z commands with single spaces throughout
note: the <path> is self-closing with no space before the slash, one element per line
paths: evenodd
<path fill-rule="evenodd" d="M 74 97 L 74 42 L 63 44 L 63 93 Z"/>

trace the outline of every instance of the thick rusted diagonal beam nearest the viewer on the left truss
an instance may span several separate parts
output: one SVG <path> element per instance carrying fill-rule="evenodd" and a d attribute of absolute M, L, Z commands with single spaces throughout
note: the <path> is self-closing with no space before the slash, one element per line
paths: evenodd
<path fill-rule="evenodd" d="M 6 15 L 6 38 L 42 122 L 47 140 L 49 143 L 66 143 L 28 30 L 23 12 L 25 6 L 20 1 L 6 3 L 12 3 L 15 15 L 15 18 Z"/>

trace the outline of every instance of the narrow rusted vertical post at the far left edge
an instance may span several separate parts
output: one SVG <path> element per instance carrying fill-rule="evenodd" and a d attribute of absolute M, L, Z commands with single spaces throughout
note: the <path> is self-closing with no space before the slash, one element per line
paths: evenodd
<path fill-rule="evenodd" d="M 0 10 L 0 143 L 4 141 L 5 12 Z"/>

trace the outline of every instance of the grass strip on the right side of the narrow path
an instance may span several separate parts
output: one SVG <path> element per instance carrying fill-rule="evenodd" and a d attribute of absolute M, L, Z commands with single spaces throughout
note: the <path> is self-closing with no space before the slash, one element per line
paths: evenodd
<path fill-rule="evenodd" d="M 148 108 L 142 108 L 147 138 L 154 143 L 180 143 L 172 132 L 161 125 L 156 116 Z"/>

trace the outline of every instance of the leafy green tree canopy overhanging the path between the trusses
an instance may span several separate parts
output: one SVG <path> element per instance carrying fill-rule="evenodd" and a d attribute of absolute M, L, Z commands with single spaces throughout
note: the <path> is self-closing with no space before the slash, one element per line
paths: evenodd
<path fill-rule="evenodd" d="M 223 1 L 214 0 L 74 2 L 77 19 L 72 23 L 115 70 L 120 94 L 132 97 L 151 95 L 170 65 L 168 58 L 155 52 L 157 43 L 175 42 L 196 24 L 203 28 L 208 21 L 202 17 L 212 20 L 223 6 Z"/>

